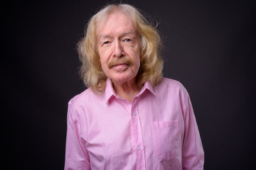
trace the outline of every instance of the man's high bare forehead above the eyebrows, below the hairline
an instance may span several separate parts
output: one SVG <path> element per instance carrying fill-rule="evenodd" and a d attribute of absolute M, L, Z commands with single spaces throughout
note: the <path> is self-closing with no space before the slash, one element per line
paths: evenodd
<path fill-rule="evenodd" d="M 122 11 L 114 11 L 107 15 L 104 21 L 97 26 L 97 37 L 124 32 L 135 32 L 132 18 Z"/>

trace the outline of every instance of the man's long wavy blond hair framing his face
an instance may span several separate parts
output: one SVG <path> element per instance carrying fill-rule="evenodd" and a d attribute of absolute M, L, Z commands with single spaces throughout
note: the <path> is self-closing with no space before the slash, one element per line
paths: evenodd
<path fill-rule="evenodd" d="M 105 90 L 107 76 L 102 71 L 100 56 L 97 52 L 97 27 L 113 11 L 123 11 L 132 18 L 141 40 L 141 65 L 137 74 L 137 84 L 142 87 L 146 81 L 152 86 L 161 81 L 164 61 L 160 56 L 161 38 L 156 27 L 150 25 L 137 8 L 128 4 L 110 4 L 97 12 L 87 23 L 85 37 L 78 42 L 78 54 L 82 66 L 80 76 L 87 88 L 96 94 Z"/>

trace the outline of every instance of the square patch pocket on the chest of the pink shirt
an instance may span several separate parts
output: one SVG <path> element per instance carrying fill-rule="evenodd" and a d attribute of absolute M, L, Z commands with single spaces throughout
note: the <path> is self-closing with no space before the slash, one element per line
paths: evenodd
<path fill-rule="evenodd" d="M 152 122 L 154 157 L 170 160 L 178 156 L 178 120 Z"/>

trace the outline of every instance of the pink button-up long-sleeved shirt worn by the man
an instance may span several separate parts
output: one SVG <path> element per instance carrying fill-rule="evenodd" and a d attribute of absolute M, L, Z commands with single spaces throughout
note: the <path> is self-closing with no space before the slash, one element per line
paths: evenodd
<path fill-rule="evenodd" d="M 68 103 L 65 169 L 203 169 L 204 152 L 186 89 L 146 82 L 132 103 L 83 91 Z"/>

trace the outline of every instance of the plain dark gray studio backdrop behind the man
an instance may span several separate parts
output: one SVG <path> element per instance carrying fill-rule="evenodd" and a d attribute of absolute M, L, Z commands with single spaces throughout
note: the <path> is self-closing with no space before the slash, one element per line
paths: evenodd
<path fill-rule="evenodd" d="M 63 169 L 67 103 L 85 90 L 76 44 L 107 2 L 3 4 L 1 98 L 7 169 Z M 191 96 L 205 169 L 249 169 L 255 160 L 255 4 L 123 1 L 159 21 L 164 77 Z M 7 26 L 7 27 L 6 27 Z M 2 159 L 3 161 L 3 159 Z M 9 163 L 7 163 L 7 161 Z"/>

